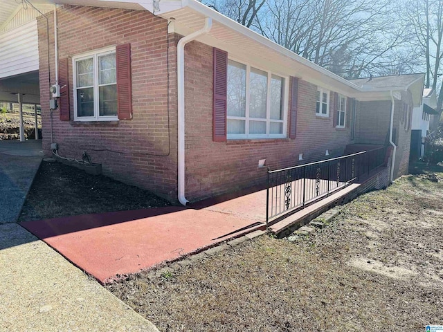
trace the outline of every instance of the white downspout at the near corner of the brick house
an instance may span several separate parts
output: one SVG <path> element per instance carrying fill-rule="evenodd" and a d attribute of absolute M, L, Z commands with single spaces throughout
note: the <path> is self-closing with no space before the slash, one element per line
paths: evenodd
<path fill-rule="evenodd" d="M 206 17 L 205 25 L 201 30 L 195 31 L 183 37 L 177 44 L 177 94 L 178 94 L 178 121 L 179 121 L 179 146 L 178 146 L 178 199 L 182 205 L 186 205 L 185 198 L 185 45 L 210 31 L 213 26 L 213 19 Z"/>

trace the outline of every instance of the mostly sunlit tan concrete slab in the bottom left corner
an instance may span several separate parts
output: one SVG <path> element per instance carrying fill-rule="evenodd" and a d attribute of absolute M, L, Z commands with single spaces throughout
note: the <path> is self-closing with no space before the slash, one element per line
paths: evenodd
<path fill-rule="evenodd" d="M 0 225 L 0 331 L 158 331 L 17 223 Z"/>

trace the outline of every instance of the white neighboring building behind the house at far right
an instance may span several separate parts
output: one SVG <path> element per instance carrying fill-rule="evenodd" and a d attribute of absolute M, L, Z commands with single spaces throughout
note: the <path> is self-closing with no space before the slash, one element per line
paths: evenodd
<path fill-rule="evenodd" d="M 433 89 L 423 89 L 423 102 L 413 109 L 412 132 L 410 137 L 410 160 L 424 157 L 424 140 L 429 133 L 429 124 L 438 115 L 437 97 Z"/>

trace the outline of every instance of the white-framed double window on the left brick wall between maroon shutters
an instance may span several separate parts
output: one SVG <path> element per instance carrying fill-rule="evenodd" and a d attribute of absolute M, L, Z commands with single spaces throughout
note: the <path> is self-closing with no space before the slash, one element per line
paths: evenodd
<path fill-rule="evenodd" d="M 117 120 L 116 50 L 73 57 L 75 120 Z"/>

